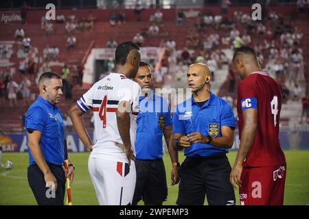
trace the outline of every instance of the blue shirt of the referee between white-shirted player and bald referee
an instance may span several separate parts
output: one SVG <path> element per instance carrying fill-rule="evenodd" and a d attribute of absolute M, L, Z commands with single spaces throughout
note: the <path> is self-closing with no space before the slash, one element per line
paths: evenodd
<path fill-rule="evenodd" d="M 137 159 L 163 157 L 163 128 L 172 125 L 168 101 L 155 94 L 139 97 L 135 151 Z"/>

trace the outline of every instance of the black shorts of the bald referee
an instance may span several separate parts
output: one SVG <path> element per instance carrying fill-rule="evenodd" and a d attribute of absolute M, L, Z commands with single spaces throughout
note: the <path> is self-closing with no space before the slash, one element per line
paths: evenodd
<path fill-rule="evenodd" d="M 186 157 L 179 169 L 181 181 L 177 205 L 235 205 L 229 181 L 231 166 L 227 156 Z"/>

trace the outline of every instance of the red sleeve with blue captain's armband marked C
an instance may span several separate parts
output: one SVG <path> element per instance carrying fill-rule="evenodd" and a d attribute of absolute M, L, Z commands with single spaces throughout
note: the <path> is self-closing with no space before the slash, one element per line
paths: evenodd
<path fill-rule="evenodd" d="M 258 94 L 255 90 L 255 80 L 252 77 L 244 79 L 238 86 L 238 98 L 242 111 L 247 109 L 258 109 Z"/>

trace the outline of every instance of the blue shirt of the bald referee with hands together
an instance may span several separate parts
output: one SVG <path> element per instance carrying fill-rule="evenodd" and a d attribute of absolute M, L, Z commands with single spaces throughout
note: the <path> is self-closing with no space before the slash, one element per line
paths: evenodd
<path fill-rule="evenodd" d="M 192 111 L 179 112 L 191 105 Z M 188 107 L 189 108 L 189 107 Z M 185 110 L 183 110 L 185 111 Z M 203 136 L 221 137 L 221 127 L 236 128 L 236 118 L 231 105 L 210 92 L 210 98 L 200 107 L 191 97 L 177 106 L 173 115 L 173 133 L 187 135 L 200 132 Z M 195 143 L 185 149 L 187 157 L 209 157 L 220 153 L 228 153 L 228 149 L 211 144 Z"/>

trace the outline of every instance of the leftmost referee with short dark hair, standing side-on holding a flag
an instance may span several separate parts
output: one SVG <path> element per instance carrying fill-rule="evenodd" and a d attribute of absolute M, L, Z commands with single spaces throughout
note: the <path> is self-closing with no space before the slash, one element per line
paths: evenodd
<path fill-rule="evenodd" d="M 62 96 L 61 77 L 43 73 L 38 79 L 40 95 L 30 105 L 25 118 L 30 166 L 27 177 L 38 205 L 63 205 L 65 178 L 73 181 L 73 164 L 65 172 L 65 124 L 56 107 Z"/>

